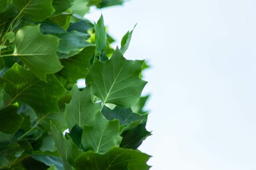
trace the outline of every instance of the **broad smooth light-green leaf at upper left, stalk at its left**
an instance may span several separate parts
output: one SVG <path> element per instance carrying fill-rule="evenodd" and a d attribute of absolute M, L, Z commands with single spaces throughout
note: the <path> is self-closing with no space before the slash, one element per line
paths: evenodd
<path fill-rule="evenodd" d="M 15 52 L 24 64 L 33 71 L 39 79 L 46 81 L 46 75 L 56 73 L 62 66 L 57 57 L 58 38 L 43 35 L 39 25 L 21 28 L 15 38 Z"/>

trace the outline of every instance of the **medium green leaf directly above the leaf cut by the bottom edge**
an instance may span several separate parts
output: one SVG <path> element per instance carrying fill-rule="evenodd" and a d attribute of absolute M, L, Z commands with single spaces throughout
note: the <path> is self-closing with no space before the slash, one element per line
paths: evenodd
<path fill-rule="evenodd" d="M 82 146 L 96 153 L 106 153 L 119 146 L 121 140 L 118 120 L 108 121 L 100 112 L 94 122 L 90 126 L 85 125 L 82 130 Z"/>

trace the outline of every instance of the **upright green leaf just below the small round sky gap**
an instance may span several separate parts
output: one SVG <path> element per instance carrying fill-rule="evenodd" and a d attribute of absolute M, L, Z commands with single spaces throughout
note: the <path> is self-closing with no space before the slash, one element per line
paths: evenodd
<path fill-rule="evenodd" d="M 92 103 L 92 93 L 90 87 L 79 91 L 74 85 L 72 88 L 72 99 L 65 109 L 65 119 L 68 129 L 71 130 L 75 124 L 83 127 L 89 125 L 97 112 L 100 111 L 100 103 Z"/>

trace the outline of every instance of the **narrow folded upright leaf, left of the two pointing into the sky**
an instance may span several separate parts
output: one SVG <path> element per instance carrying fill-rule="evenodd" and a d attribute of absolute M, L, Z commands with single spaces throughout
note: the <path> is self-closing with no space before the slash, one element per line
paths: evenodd
<path fill-rule="evenodd" d="M 106 46 L 106 31 L 104 26 L 104 19 L 103 16 L 100 16 L 100 19 L 98 20 L 97 24 L 94 24 L 95 29 L 95 38 L 96 38 L 96 49 L 95 53 L 100 54 L 104 52 L 104 50 L 107 48 Z"/>

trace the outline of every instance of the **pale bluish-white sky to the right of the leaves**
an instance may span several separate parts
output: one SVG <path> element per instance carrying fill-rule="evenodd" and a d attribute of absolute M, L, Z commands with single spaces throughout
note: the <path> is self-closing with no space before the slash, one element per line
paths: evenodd
<path fill-rule="evenodd" d="M 140 150 L 151 170 L 256 169 L 256 1 L 130 0 L 94 10 L 128 60 L 146 60 L 151 94 Z"/>

